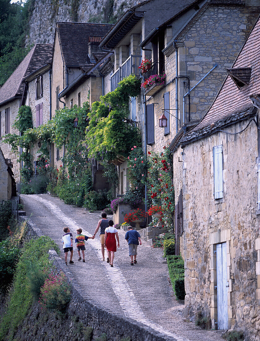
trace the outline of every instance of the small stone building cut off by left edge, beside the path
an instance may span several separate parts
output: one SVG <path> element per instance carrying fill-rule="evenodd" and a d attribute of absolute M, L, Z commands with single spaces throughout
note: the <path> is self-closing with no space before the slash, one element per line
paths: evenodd
<path fill-rule="evenodd" d="M 13 163 L 10 159 L 5 159 L 0 148 L 0 201 L 7 201 L 12 196 L 16 196 L 16 184 L 12 167 Z"/>

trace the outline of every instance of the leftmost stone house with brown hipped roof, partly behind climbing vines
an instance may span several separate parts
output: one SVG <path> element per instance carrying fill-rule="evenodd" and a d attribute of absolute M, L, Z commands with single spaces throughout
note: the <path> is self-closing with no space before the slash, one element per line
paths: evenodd
<path fill-rule="evenodd" d="M 4 157 L 13 160 L 13 172 L 16 181 L 20 180 L 21 164 L 17 161 L 17 155 L 11 150 L 11 146 L 3 142 L 3 138 L 8 133 L 19 134 L 13 124 L 19 107 L 25 104 L 25 95 L 28 92 L 27 85 L 23 80 L 50 62 L 49 53 L 51 50 L 52 45 L 36 44 L 0 88 L 0 147 Z M 48 53 L 43 53 L 44 51 L 48 51 Z M 32 90 L 32 93 L 35 95 L 35 90 Z M 22 98 L 23 102 L 21 103 Z M 34 105 L 32 105 L 33 110 L 35 110 Z"/>

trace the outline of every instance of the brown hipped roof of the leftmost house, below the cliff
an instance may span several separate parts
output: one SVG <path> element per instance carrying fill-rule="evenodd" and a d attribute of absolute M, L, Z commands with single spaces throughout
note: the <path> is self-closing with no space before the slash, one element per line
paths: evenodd
<path fill-rule="evenodd" d="M 0 105 L 21 98 L 23 91 L 22 79 L 43 65 L 51 63 L 52 48 L 52 44 L 34 45 L 0 88 Z"/>

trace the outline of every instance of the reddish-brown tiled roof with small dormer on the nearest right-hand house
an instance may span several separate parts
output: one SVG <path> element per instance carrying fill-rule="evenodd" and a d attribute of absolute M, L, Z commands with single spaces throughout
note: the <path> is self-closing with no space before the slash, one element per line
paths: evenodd
<path fill-rule="evenodd" d="M 204 136 L 206 129 L 212 133 L 216 131 L 219 121 L 232 120 L 230 116 L 252 115 L 252 102 L 250 95 L 260 93 L 260 19 L 258 18 L 249 33 L 240 53 L 232 68 L 251 68 L 249 84 L 238 88 L 228 75 L 221 86 L 215 100 L 201 121 L 185 134 L 181 140 L 182 145 Z M 233 123 L 235 123 L 234 121 Z M 230 121 L 231 123 L 231 121 Z"/>

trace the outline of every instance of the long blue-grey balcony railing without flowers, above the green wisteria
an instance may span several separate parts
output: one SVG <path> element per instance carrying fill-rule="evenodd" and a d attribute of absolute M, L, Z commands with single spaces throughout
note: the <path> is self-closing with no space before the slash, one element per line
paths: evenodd
<path fill-rule="evenodd" d="M 118 87 L 118 83 L 131 74 L 139 76 L 139 65 L 142 63 L 142 56 L 131 55 L 119 68 L 113 73 L 110 79 L 111 91 Z"/>

